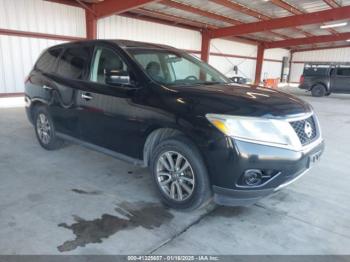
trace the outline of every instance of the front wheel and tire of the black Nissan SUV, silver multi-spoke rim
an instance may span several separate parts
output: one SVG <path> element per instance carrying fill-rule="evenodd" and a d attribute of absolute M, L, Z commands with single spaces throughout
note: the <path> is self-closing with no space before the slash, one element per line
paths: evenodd
<path fill-rule="evenodd" d="M 163 203 L 174 209 L 196 209 L 210 196 L 206 166 L 195 145 L 179 136 L 161 142 L 153 151 L 151 171 Z"/>

